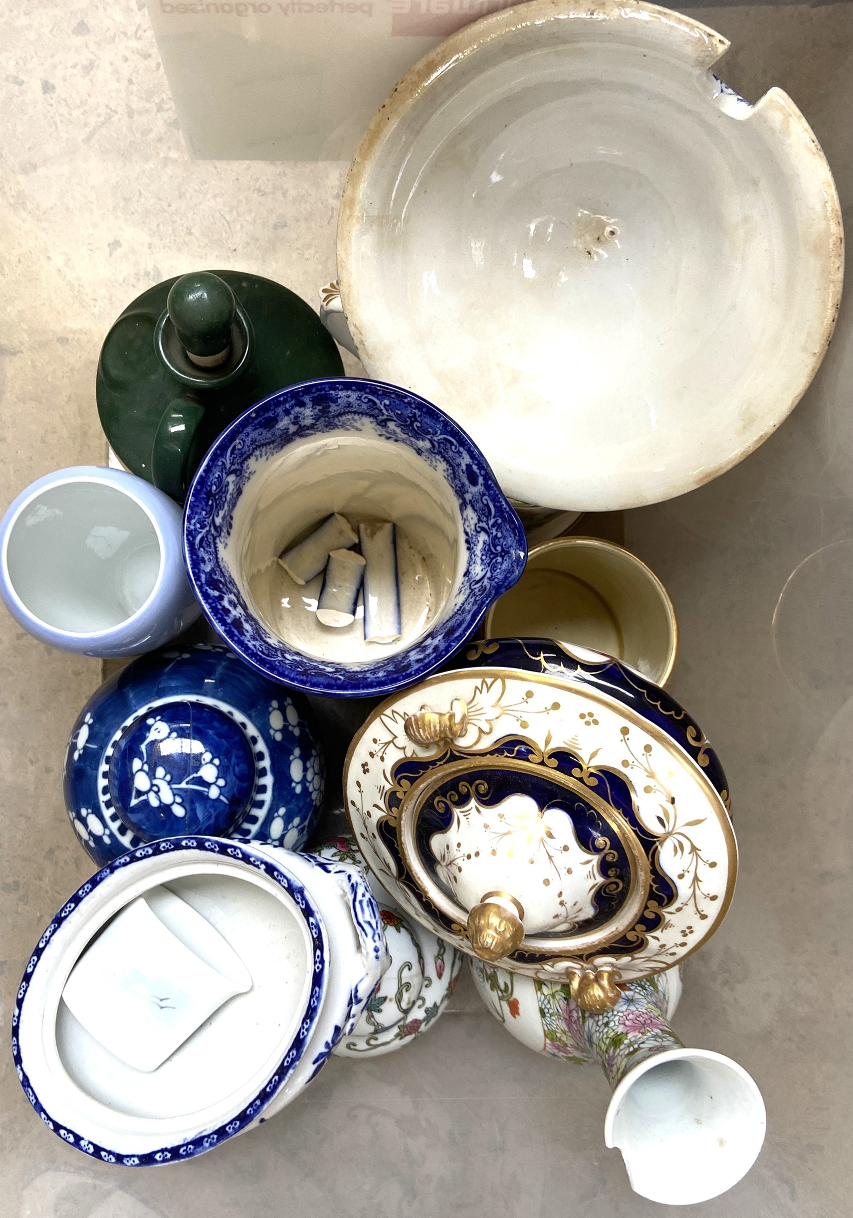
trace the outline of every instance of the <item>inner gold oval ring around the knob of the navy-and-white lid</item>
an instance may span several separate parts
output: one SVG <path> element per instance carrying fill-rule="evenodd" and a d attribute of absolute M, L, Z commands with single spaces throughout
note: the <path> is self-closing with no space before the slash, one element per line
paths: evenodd
<path fill-rule="evenodd" d="M 451 896 L 447 896 L 441 885 L 436 884 L 422 865 L 414 842 L 414 832 L 418 823 L 418 814 L 433 790 L 440 783 L 452 780 L 457 773 L 469 773 L 473 765 L 478 770 L 517 770 L 519 773 L 530 773 L 531 770 L 537 770 L 541 772 L 541 767 L 534 762 L 519 761 L 515 758 L 465 758 L 462 761 L 452 761 L 450 765 L 439 766 L 422 775 L 406 792 L 397 811 L 397 844 L 409 875 L 420 888 L 423 895 L 436 909 L 441 910 L 447 917 L 455 918 L 462 926 L 465 924 L 470 910 L 459 905 Z M 601 795 L 597 795 L 589 787 L 576 782 L 568 775 L 558 773 L 554 770 L 548 770 L 545 777 L 550 778 L 556 786 L 564 787 L 573 794 L 580 795 L 607 821 L 630 859 L 631 882 L 621 909 L 596 931 L 587 932 L 586 934 L 563 935 L 561 938 L 525 935 L 517 950 L 548 952 L 559 956 L 576 956 L 579 952 L 595 951 L 596 949 L 604 950 L 611 943 L 620 939 L 626 931 L 630 931 L 646 907 L 651 879 L 651 868 L 646 851 L 640 845 L 634 829 L 624 816 L 618 809 L 612 808 L 602 799 Z M 512 895 L 517 901 L 522 901 L 522 898 L 517 894 L 513 893 Z M 485 898 L 483 899 L 485 900 Z"/>

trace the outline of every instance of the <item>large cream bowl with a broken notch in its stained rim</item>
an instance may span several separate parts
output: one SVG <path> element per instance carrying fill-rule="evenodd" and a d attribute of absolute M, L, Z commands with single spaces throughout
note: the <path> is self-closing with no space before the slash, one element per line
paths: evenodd
<path fill-rule="evenodd" d="M 820 363 L 832 175 L 785 93 L 720 82 L 727 46 L 648 4 L 531 0 L 426 55 L 364 136 L 338 230 L 355 347 L 461 423 L 513 499 L 682 495 Z"/>

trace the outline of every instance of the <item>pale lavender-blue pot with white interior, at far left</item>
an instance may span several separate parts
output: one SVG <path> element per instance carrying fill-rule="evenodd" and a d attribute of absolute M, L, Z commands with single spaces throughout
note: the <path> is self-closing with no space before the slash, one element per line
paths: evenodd
<path fill-rule="evenodd" d="M 38 479 L 0 523 L 0 596 L 49 647 L 140 655 L 201 613 L 180 508 L 126 470 L 74 465 Z"/>

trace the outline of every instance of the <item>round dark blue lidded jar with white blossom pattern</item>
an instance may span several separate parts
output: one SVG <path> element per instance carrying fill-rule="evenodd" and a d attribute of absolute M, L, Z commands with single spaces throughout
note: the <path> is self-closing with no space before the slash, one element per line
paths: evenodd
<path fill-rule="evenodd" d="M 300 850 L 323 788 L 306 700 L 206 643 L 146 655 L 106 681 L 65 761 L 68 815 L 99 865 L 183 833 Z"/>

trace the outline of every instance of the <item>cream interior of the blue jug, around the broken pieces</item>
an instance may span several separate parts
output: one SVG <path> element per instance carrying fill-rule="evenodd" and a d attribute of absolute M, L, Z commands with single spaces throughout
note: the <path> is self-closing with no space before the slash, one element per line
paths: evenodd
<path fill-rule="evenodd" d="M 331 515 L 396 525 L 401 636 L 364 639 L 363 604 L 350 626 L 317 620 L 323 575 L 299 585 L 279 554 Z M 223 560 L 266 630 L 296 652 L 338 664 L 375 663 L 411 647 L 448 613 L 467 561 L 462 516 L 445 479 L 405 443 L 362 431 L 296 441 L 257 460 Z"/>

